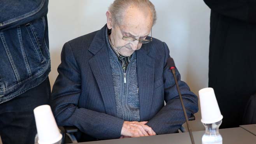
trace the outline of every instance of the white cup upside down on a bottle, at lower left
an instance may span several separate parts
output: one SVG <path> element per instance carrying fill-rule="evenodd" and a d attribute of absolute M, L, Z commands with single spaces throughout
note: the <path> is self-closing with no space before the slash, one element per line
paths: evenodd
<path fill-rule="evenodd" d="M 34 115 L 39 144 L 54 144 L 61 140 L 62 135 L 49 105 L 37 106 Z"/>

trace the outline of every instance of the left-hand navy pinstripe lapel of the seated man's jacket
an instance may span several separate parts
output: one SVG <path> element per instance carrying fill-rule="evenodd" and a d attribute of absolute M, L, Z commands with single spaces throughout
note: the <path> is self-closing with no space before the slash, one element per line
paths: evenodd
<path fill-rule="evenodd" d="M 105 41 L 105 28 L 104 26 L 98 31 L 89 47 L 89 51 L 94 54 L 89 60 L 89 65 L 100 89 L 106 113 L 116 117 L 116 99 Z"/>

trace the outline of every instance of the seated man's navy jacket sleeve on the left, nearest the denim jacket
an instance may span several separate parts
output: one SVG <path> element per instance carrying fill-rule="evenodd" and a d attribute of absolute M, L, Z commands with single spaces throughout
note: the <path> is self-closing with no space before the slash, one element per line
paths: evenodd
<path fill-rule="evenodd" d="M 123 120 L 77 106 L 81 96 L 81 73 L 68 43 L 63 46 L 58 73 L 51 101 L 57 124 L 75 126 L 81 132 L 98 139 L 119 138 Z"/>

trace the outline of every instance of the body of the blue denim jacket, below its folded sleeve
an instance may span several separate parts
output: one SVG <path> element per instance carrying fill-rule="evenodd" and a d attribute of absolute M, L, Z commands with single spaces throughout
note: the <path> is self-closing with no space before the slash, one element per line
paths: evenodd
<path fill-rule="evenodd" d="M 46 22 L 42 17 L 29 24 L 0 31 L 0 103 L 37 86 L 49 74 Z"/>

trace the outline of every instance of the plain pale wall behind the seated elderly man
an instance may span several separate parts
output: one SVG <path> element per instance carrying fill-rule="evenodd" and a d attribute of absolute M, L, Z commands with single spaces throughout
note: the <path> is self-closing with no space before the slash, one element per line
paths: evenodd
<path fill-rule="evenodd" d="M 50 0 L 48 12 L 51 86 L 58 75 L 65 42 L 102 28 L 113 0 Z M 203 0 L 151 0 L 157 12 L 153 37 L 165 41 L 191 91 L 208 86 L 210 9 Z M 200 111 L 189 122 L 193 131 L 204 130 Z"/>

